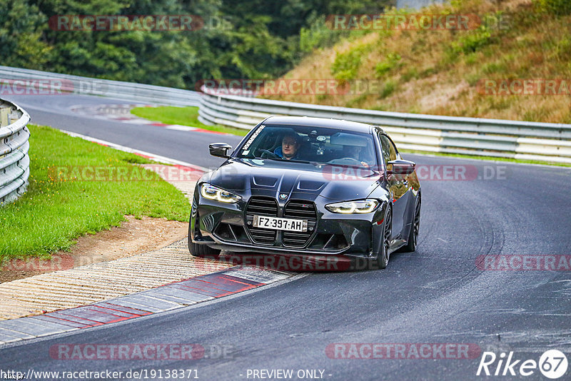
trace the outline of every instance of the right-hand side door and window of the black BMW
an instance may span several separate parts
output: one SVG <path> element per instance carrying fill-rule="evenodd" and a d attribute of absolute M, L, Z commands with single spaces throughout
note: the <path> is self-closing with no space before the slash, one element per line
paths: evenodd
<path fill-rule="evenodd" d="M 385 170 L 391 171 L 389 161 L 398 158 L 398 151 L 393 141 L 385 135 L 379 133 L 380 146 L 383 151 L 383 162 Z M 408 191 L 410 186 L 405 176 L 398 174 L 389 174 L 385 176 L 387 179 L 388 189 L 393 197 L 393 238 L 403 238 L 403 228 L 405 223 L 405 213 L 408 204 Z"/>

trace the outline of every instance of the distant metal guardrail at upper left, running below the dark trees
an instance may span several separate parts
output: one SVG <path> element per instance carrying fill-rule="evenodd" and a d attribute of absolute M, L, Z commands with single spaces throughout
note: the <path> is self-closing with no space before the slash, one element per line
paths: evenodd
<path fill-rule="evenodd" d="M 16 88 L 11 95 L 26 93 L 24 88 L 41 87 L 37 81 L 45 81 L 44 88 L 59 90 L 62 93 L 77 93 L 83 95 L 103 96 L 136 102 L 151 102 L 167 106 L 198 106 L 201 93 L 163 86 L 144 85 L 141 83 L 109 81 L 107 79 L 70 76 L 67 74 L 51 73 L 49 71 L 29 70 L 0 66 L 0 81 L 10 81 Z M 15 82 L 19 81 L 19 82 Z M 27 83 L 26 83 L 27 81 Z M 36 81 L 36 83 L 31 83 Z M 49 83 L 56 81 L 56 83 Z M 11 86 L 3 86 L 4 89 Z M 6 90 L 4 90 L 5 92 Z M 6 93 L 2 95 L 6 96 Z"/>

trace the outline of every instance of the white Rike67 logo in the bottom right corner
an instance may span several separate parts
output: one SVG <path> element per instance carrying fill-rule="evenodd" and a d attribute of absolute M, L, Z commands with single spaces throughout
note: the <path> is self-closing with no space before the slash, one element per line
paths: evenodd
<path fill-rule="evenodd" d="M 552 380 L 562 377 L 567 372 L 567 356 L 560 350 L 547 350 L 543 352 L 539 361 L 533 359 L 516 360 L 513 352 L 507 355 L 501 352 L 483 352 L 476 375 L 486 376 L 530 376 L 540 370 L 542 375 Z M 567 378 L 568 380 L 568 378 Z"/>

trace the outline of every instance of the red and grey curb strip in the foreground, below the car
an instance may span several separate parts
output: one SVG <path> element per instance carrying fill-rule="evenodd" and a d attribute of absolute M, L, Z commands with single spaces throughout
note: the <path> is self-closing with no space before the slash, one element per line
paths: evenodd
<path fill-rule="evenodd" d="M 0 345 L 152 315 L 252 290 L 293 276 L 236 266 L 158 288 L 44 315 L 0 321 Z"/>

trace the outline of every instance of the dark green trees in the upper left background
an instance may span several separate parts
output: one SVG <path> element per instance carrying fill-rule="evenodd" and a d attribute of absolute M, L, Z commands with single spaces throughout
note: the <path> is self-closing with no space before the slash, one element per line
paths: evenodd
<path fill-rule="evenodd" d="M 5 66 L 194 89 L 204 79 L 281 76 L 314 47 L 338 40 L 338 31 L 322 28 L 326 15 L 377 13 L 390 2 L 0 0 L 0 59 Z M 198 15 L 205 26 L 59 31 L 48 23 L 58 15 L 168 14 Z"/>

